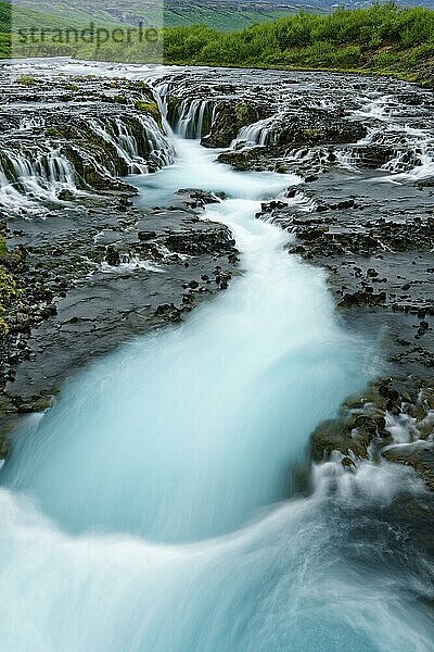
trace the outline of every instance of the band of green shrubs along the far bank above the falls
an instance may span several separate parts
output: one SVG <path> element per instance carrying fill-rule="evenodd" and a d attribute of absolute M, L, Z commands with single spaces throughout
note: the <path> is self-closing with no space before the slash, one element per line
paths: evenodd
<path fill-rule="evenodd" d="M 2 7 L 0 2 L 0 22 L 5 24 Z M 28 15 L 16 11 L 23 11 L 23 21 Z M 7 29 L 2 32 L 7 39 Z M 163 35 L 166 63 L 373 72 L 434 86 L 434 11 L 430 9 L 387 2 L 367 9 L 337 9 L 332 14 L 299 12 L 239 32 L 195 25 L 166 27 Z M 16 36 L 13 42 L 16 55 Z M 148 62 L 153 50 L 141 42 L 107 42 L 99 48 L 94 43 L 72 48 L 46 42 L 42 52 L 26 46 L 20 54 Z"/>

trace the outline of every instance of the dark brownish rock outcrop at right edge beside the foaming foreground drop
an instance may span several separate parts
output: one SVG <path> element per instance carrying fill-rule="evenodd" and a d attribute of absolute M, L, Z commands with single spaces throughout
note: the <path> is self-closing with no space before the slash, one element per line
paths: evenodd
<path fill-rule="evenodd" d="M 316 462 L 339 451 L 345 468 L 359 460 L 386 460 L 414 468 L 434 491 L 434 378 L 372 383 L 348 399 L 336 419 L 321 424 L 311 437 Z"/>

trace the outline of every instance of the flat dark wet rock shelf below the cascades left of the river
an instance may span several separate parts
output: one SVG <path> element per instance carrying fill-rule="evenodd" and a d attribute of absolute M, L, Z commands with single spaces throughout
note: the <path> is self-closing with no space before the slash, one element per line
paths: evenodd
<path fill-rule="evenodd" d="M 3 314 L 2 415 L 47 404 L 89 355 L 180 321 L 228 287 L 238 251 L 226 226 L 200 217 L 210 201 L 218 198 L 200 190 L 155 210 L 125 195 L 81 198 L 68 218 L 50 213 L 55 228 L 9 221 L 18 293 Z"/>

